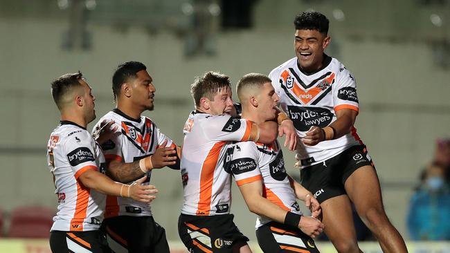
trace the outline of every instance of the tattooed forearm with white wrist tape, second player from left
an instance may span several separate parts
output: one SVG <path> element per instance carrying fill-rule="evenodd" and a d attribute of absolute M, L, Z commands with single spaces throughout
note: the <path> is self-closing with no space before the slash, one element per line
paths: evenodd
<path fill-rule="evenodd" d="M 153 155 L 135 162 L 125 163 L 117 156 L 117 159 L 107 158 L 107 175 L 118 182 L 131 182 L 152 169 L 176 165 L 179 158 L 175 147 L 165 147 L 165 144 L 167 140 L 156 149 Z"/>

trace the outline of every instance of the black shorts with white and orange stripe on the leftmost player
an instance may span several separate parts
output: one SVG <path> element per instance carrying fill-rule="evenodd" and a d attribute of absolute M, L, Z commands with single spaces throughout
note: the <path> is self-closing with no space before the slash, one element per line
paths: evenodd
<path fill-rule="evenodd" d="M 50 248 L 53 253 L 60 252 L 109 252 L 105 234 L 98 230 L 86 232 L 50 232 Z"/>

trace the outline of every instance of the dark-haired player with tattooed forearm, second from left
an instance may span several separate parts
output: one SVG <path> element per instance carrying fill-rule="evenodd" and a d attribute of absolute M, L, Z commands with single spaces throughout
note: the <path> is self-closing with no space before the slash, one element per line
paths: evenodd
<path fill-rule="evenodd" d="M 147 174 L 145 184 L 149 184 L 152 169 L 179 169 L 174 142 L 142 115 L 154 109 L 156 92 L 146 66 L 141 62 L 120 64 L 112 77 L 112 90 L 116 109 L 94 127 L 98 129 L 105 121 L 114 122 L 108 127 L 118 133 L 102 144 L 107 175 L 128 184 Z M 150 205 L 108 196 L 104 223 L 108 245 L 116 253 L 169 252 L 165 229 L 154 221 Z"/>

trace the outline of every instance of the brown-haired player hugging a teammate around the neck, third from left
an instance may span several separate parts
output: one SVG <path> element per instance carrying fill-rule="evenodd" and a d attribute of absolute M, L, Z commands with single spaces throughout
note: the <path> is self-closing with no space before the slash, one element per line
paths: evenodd
<path fill-rule="evenodd" d="M 251 252 L 249 241 L 235 223 L 231 208 L 231 176 L 224 170 L 226 144 L 231 141 L 271 143 L 276 122 L 255 124 L 231 117 L 233 100 L 226 75 L 216 72 L 197 77 L 191 86 L 195 111 L 184 127 L 181 157 L 184 200 L 179 236 L 190 252 Z M 285 144 L 296 146 L 290 120 L 280 122 Z"/>

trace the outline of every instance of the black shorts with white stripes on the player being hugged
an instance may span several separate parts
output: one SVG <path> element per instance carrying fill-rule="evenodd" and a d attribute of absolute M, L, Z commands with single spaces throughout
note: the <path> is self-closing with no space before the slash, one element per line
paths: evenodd
<path fill-rule="evenodd" d="M 319 252 L 314 240 L 300 229 L 292 229 L 274 221 L 258 227 L 256 238 L 265 253 Z"/>

